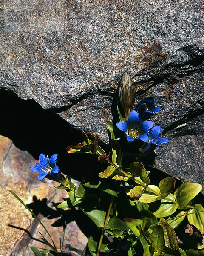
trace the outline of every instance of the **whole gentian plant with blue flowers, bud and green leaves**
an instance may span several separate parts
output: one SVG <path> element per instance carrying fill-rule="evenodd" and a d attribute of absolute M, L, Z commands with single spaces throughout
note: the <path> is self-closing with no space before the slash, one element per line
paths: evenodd
<path fill-rule="evenodd" d="M 169 140 L 160 138 L 161 127 L 149 120 L 161 110 L 160 106 L 155 106 L 155 99 L 144 98 L 133 109 L 134 101 L 133 82 L 125 72 L 118 89 L 118 122 L 108 122 L 110 152 L 99 146 L 94 132 L 91 138 L 83 132 L 83 141 L 67 148 L 69 154 L 97 156 L 104 164 L 98 180 L 82 179 L 77 188 L 71 177 L 64 177 L 60 172 L 56 165 L 57 155 L 49 159 L 40 154 L 40 163 L 30 169 L 38 173 L 39 180 L 50 178 L 60 183 L 57 189 L 66 189 L 68 198 L 58 208 L 77 206 L 96 225 L 99 239 L 94 235 L 89 237 L 87 256 L 203 255 L 204 208 L 192 201 L 202 186 L 186 182 L 175 189 L 173 177 L 157 180 L 156 184 L 151 182 L 144 159 Z M 14 192 L 11 193 L 20 201 Z M 189 241 L 188 247 L 180 246 L 176 234 L 184 220 L 189 221 L 190 236 L 185 238 Z M 185 231 L 182 232 L 185 237 Z M 55 245 L 47 244 L 57 253 Z M 190 244 L 193 244 L 191 248 Z M 32 247 L 31 250 L 37 256 L 48 252 L 40 253 Z"/>

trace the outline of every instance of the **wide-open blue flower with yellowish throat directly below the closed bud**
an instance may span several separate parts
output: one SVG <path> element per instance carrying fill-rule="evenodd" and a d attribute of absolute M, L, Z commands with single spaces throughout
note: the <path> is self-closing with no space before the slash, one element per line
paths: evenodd
<path fill-rule="evenodd" d="M 134 141 L 135 139 L 140 139 L 143 142 L 148 142 L 149 137 L 147 132 L 152 128 L 154 122 L 144 121 L 139 118 L 139 113 L 136 110 L 130 112 L 128 119 L 125 122 L 120 121 L 116 123 L 119 130 L 126 133 L 127 141 Z"/>

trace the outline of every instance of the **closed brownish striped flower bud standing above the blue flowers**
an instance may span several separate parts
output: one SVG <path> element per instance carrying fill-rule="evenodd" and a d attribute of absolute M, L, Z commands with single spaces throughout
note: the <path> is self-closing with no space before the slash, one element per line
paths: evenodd
<path fill-rule="evenodd" d="M 125 118 L 128 119 L 135 103 L 135 88 L 129 73 L 124 72 L 122 74 L 118 87 L 119 101 L 125 113 Z"/>

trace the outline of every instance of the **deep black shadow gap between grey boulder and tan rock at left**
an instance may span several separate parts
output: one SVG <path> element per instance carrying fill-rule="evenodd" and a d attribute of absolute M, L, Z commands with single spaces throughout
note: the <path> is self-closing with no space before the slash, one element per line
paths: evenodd
<path fill-rule="evenodd" d="M 23 100 L 14 93 L 0 90 L 0 134 L 8 137 L 20 150 L 38 159 L 40 153 L 58 154 L 57 165 L 65 174 L 77 180 L 94 180 L 103 170 L 97 157 L 91 154 L 68 154 L 69 145 L 82 141 L 77 131 L 51 110 L 44 110 L 34 100 Z M 94 170 L 94 171 L 93 171 Z"/>

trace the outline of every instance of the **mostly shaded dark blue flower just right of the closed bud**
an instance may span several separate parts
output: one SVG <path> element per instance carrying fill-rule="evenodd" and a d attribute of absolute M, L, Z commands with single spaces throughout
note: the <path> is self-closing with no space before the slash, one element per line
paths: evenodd
<path fill-rule="evenodd" d="M 139 113 L 139 117 L 142 121 L 147 120 L 150 116 L 153 116 L 155 112 L 160 111 L 162 108 L 160 106 L 155 107 L 154 97 L 145 97 L 136 105 L 136 111 Z"/>

